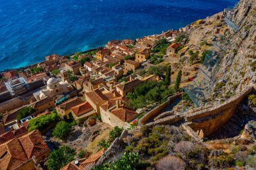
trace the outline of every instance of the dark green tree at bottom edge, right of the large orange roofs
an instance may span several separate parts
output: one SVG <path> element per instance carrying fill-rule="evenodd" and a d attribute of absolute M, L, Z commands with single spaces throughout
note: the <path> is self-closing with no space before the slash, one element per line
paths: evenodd
<path fill-rule="evenodd" d="M 69 146 L 61 146 L 57 150 L 53 151 L 49 155 L 47 160 L 47 167 L 51 170 L 59 170 L 65 167 L 67 163 L 74 160 L 75 149 Z"/>

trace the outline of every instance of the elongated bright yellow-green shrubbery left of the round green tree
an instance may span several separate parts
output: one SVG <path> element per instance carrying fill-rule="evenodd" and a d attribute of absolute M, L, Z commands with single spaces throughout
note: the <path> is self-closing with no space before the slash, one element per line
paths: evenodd
<path fill-rule="evenodd" d="M 56 113 L 42 115 L 39 118 L 32 119 L 28 122 L 28 131 L 38 129 L 40 132 L 54 125 L 59 121 L 59 116 Z"/>

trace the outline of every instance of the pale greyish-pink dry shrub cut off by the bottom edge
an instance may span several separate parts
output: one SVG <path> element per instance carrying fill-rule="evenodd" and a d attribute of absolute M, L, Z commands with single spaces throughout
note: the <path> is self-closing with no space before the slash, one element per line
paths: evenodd
<path fill-rule="evenodd" d="M 156 164 L 156 170 L 184 170 L 186 163 L 179 159 L 178 157 L 173 157 L 172 155 L 167 155 L 158 161 Z"/>

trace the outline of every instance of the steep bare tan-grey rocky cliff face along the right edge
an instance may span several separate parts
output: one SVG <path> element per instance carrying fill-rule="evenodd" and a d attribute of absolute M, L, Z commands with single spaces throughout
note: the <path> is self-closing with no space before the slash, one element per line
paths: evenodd
<path fill-rule="evenodd" d="M 241 0 L 228 15 L 238 27 L 225 34 L 230 43 L 224 46 L 226 53 L 219 70 L 226 83 L 225 93 L 241 91 L 256 83 L 256 1 Z"/>

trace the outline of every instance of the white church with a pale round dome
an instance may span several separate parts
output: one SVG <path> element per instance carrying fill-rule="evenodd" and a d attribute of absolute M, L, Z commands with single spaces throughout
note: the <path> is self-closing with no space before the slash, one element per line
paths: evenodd
<path fill-rule="evenodd" d="M 44 99 L 45 97 L 55 97 L 56 95 L 62 95 L 63 93 L 67 93 L 72 89 L 72 87 L 67 83 L 67 81 L 63 82 L 56 78 L 50 78 L 47 81 L 46 89 L 42 89 L 40 91 L 36 91 L 34 93 L 34 97 L 37 100 Z"/>

